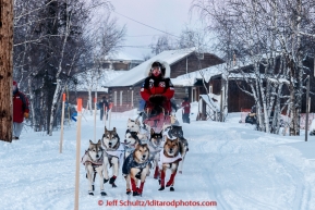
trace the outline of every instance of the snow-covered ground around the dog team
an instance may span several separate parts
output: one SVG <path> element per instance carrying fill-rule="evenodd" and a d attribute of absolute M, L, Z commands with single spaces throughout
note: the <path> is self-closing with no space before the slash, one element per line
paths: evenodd
<path fill-rule="evenodd" d="M 159 192 L 152 173 L 146 180 L 143 197 L 128 196 L 120 173 L 117 188 L 105 184 L 108 196 L 100 197 L 97 181 L 96 195 L 88 196 L 87 180 L 81 164 L 80 209 L 106 209 L 108 202 L 112 202 L 111 209 L 173 209 L 167 205 L 174 201 L 187 205 L 177 209 L 194 210 L 315 209 L 314 136 L 308 136 L 305 143 L 303 133 L 299 137 L 288 137 L 256 132 L 239 123 L 240 113 L 229 114 L 226 123 L 195 121 L 195 103 L 193 113 L 191 124 L 182 124 L 190 151 L 183 174 L 175 176 L 174 192 L 168 188 Z M 177 115 L 181 119 L 180 111 Z M 121 139 L 129 118 L 135 119 L 135 112 L 111 115 L 110 126 L 117 127 Z M 97 139 L 104 133 L 104 125 L 97 115 Z M 74 209 L 74 122 L 65 124 L 63 137 L 62 153 L 59 153 L 60 131 L 47 136 L 25 127 L 20 140 L 12 144 L 0 141 L 0 209 Z M 81 137 L 83 155 L 88 139 L 94 140 L 94 116 L 87 113 L 82 118 Z M 129 201 L 147 206 L 122 206 Z M 203 201 L 216 202 L 216 206 L 196 206 Z"/>

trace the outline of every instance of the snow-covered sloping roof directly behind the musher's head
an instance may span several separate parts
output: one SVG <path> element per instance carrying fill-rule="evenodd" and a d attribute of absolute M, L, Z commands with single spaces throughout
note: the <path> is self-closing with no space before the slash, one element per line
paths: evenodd
<path fill-rule="evenodd" d="M 194 52 L 194 48 L 181 49 L 181 50 L 168 50 L 163 51 L 149 60 L 141 63 L 140 65 L 124 72 L 123 75 L 119 76 L 117 79 L 106 84 L 106 87 L 125 87 L 132 86 L 147 77 L 146 70 L 149 63 L 160 60 L 167 62 L 169 65 L 175 63 L 177 61 L 185 58 L 186 55 Z"/>

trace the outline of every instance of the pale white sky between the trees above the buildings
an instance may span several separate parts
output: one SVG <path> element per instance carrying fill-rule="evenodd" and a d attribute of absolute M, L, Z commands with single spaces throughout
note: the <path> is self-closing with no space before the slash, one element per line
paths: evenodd
<path fill-rule="evenodd" d="M 126 25 L 128 35 L 125 46 L 148 46 L 153 38 L 161 35 L 161 32 L 149 28 L 145 25 L 129 20 L 133 18 L 143 24 L 168 32 L 175 36 L 187 25 L 196 25 L 190 18 L 190 7 L 192 0 L 112 0 L 116 8 L 112 15 L 118 17 L 120 25 Z M 120 14 L 128 17 L 124 17 Z M 196 16 L 196 13 L 194 13 Z M 194 20 L 194 18 L 192 18 Z M 150 52 L 150 49 L 125 48 L 124 53 L 143 59 L 144 54 Z"/>

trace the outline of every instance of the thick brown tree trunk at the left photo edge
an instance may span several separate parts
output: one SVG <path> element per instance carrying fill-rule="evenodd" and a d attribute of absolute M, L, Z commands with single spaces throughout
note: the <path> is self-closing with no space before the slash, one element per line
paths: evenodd
<path fill-rule="evenodd" d="M 12 141 L 13 1 L 0 0 L 0 139 Z"/>

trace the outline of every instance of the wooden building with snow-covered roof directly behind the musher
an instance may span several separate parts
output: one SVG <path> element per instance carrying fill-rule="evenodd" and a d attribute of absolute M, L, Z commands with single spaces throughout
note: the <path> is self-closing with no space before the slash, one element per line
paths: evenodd
<path fill-rule="evenodd" d="M 140 107 L 140 101 L 142 100 L 140 95 L 141 86 L 148 76 L 148 70 L 154 61 L 163 61 L 170 65 L 170 72 L 166 74 L 166 77 L 170 77 L 171 81 L 182 74 L 223 62 L 213 53 L 199 54 L 194 49 L 163 51 L 106 85 L 109 100 L 113 102 L 113 111 L 122 112 Z M 180 104 L 184 97 L 191 98 L 195 91 L 191 87 L 175 84 L 174 90 L 173 99 L 177 104 Z"/>

